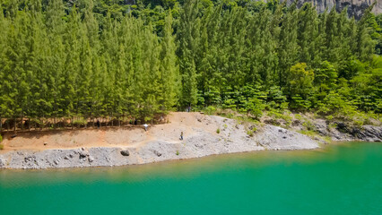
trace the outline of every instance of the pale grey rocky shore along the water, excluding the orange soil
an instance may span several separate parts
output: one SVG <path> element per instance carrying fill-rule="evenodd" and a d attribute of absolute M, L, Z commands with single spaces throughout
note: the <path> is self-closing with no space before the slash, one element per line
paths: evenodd
<path fill-rule="evenodd" d="M 221 125 L 220 132 L 191 125 L 192 132 L 188 131 L 183 141 L 158 138 L 143 145 L 125 147 L 12 150 L 0 154 L 0 168 L 122 166 L 251 150 L 310 150 L 318 147 L 318 143 L 306 135 L 273 125 L 264 125 L 249 135 L 246 125 L 238 125 L 233 119 L 220 116 L 199 116 L 198 119 L 206 126 Z"/>

